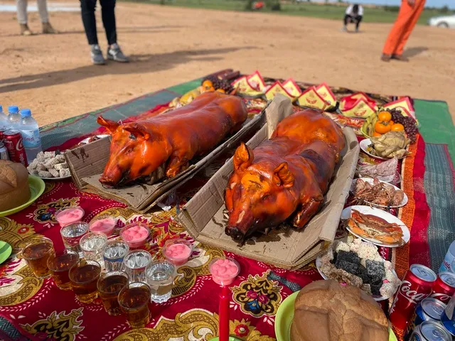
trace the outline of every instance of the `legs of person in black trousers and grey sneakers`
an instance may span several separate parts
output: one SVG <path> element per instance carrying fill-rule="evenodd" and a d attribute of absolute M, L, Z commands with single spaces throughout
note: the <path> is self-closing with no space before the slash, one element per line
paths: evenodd
<path fill-rule="evenodd" d="M 116 62 L 127 63 L 127 56 L 122 53 L 117 44 L 117 28 L 115 26 L 115 0 L 100 0 L 102 24 L 105 26 L 107 43 L 107 58 Z M 100 45 L 98 45 L 97 23 L 95 20 L 95 8 L 97 0 L 80 0 L 82 23 L 90 45 L 90 55 L 95 65 L 105 64 Z"/>

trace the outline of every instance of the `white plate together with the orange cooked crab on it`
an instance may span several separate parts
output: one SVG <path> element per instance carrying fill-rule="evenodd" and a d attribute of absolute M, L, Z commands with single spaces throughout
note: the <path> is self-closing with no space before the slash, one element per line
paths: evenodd
<path fill-rule="evenodd" d="M 410 241 L 410 229 L 404 222 L 370 206 L 354 205 L 341 212 L 341 220 L 346 220 L 346 229 L 367 242 L 379 247 L 402 247 Z"/>

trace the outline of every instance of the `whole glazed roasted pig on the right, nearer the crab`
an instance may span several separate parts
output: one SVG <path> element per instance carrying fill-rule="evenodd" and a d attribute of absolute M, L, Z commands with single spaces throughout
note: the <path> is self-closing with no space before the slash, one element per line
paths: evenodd
<path fill-rule="evenodd" d="M 323 205 L 344 146 L 341 128 L 314 109 L 284 119 L 254 150 L 239 146 L 225 193 L 226 234 L 243 240 L 288 218 L 303 228 Z"/>

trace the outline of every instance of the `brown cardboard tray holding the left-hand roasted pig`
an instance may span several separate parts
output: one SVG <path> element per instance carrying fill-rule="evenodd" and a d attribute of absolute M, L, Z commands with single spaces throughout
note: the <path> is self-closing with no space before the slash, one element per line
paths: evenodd
<path fill-rule="evenodd" d="M 240 131 L 219 144 L 208 155 L 198 159 L 196 163 L 193 163 L 185 171 L 179 173 L 174 178 L 164 179 L 153 185 L 136 183 L 124 188 L 104 188 L 102 186 L 99 179 L 109 160 L 110 136 L 66 151 L 65 158 L 77 188 L 80 190 L 90 190 L 103 197 L 124 202 L 139 212 L 146 212 L 173 190 L 176 190 L 183 183 L 193 178 L 193 175 L 196 175 L 200 169 L 208 166 L 225 149 L 237 146 L 242 139 L 246 139 L 245 136 L 247 134 L 250 133 L 251 136 L 263 124 L 264 111 L 255 115 L 252 119 L 247 119 Z"/>

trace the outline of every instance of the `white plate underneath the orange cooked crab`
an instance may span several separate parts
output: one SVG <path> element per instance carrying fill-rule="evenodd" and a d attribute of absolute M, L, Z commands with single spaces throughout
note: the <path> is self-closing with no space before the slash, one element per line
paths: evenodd
<path fill-rule="evenodd" d="M 343 212 L 341 212 L 341 219 L 342 220 L 349 219 L 351 210 L 357 210 L 358 212 L 360 212 L 360 213 L 362 213 L 364 215 L 375 215 L 376 217 L 382 218 L 386 222 L 390 222 L 390 223 L 395 222 L 395 224 L 400 226 L 400 228 L 402 229 L 402 232 L 403 232 L 403 237 L 402 237 L 402 243 L 401 244 L 400 243 L 397 243 L 397 244 L 386 244 L 386 243 L 380 242 L 380 241 L 378 241 L 377 239 L 374 239 L 374 238 L 362 237 L 362 236 L 360 236 L 360 234 L 356 234 L 356 233 L 352 232 L 350 227 L 346 226 L 346 229 L 348 229 L 348 231 L 350 233 L 355 235 L 355 237 L 363 239 L 366 242 L 370 242 L 370 243 L 373 243 L 375 245 L 378 245 L 378 247 L 402 247 L 404 244 L 406 244 L 407 242 L 410 241 L 410 238 L 411 238 L 410 229 L 407 228 L 407 226 L 405 225 L 404 222 L 402 222 L 397 217 L 395 217 L 395 215 L 391 215 L 390 213 L 382 211 L 379 208 L 374 208 L 374 207 L 370 207 L 370 206 L 355 205 L 355 206 L 346 207 L 343 210 Z"/>

